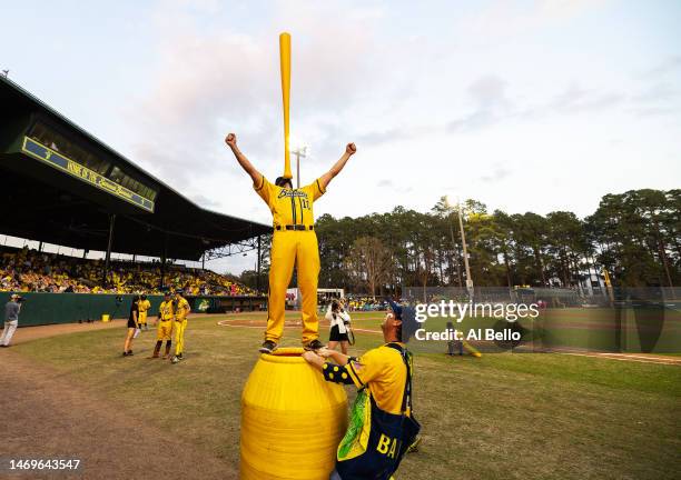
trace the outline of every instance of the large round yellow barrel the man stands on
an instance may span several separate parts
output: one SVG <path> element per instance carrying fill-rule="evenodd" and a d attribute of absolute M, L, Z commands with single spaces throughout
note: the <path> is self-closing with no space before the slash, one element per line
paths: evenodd
<path fill-rule="evenodd" d="M 261 354 L 241 393 L 241 480 L 328 480 L 347 427 L 347 396 L 302 357 Z"/>

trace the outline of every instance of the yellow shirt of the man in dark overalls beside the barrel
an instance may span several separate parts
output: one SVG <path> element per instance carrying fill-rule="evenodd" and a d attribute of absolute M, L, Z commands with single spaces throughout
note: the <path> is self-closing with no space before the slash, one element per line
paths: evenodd
<path fill-rule="evenodd" d="M 381 410 L 402 413 L 406 366 L 397 350 L 386 346 L 372 349 L 358 360 L 351 360 L 345 370 L 357 388 L 369 389 Z"/>

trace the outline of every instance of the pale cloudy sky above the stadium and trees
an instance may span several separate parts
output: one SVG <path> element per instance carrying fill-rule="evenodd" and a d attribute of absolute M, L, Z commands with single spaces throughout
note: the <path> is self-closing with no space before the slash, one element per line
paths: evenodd
<path fill-rule="evenodd" d="M 313 181 L 357 153 L 315 214 L 592 213 L 681 187 L 681 2 L 0 0 L 0 69 L 201 207 L 270 222 L 224 144 L 283 171 L 278 34 L 292 34 L 292 142 Z M 254 257 L 209 266 L 253 268 Z"/>

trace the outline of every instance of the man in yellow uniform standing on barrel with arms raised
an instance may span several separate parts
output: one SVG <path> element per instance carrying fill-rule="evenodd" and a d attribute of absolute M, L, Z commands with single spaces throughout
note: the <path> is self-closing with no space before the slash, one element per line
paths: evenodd
<path fill-rule="evenodd" d="M 267 302 L 267 331 L 259 351 L 272 353 L 284 333 L 286 289 L 290 282 L 294 263 L 298 269 L 298 287 L 303 294 L 303 346 L 307 350 L 324 347 L 319 341 L 317 318 L 317 280 L 319 277 L 319 249 L 315 234 L 313 202 L 326 192 L 328 182 L 345 167 L 357 149 L 354 143 L 345 147 L 340 159 L 310 184 L 294 189 L 290 179 L 279 177 L 275 183 L 255 169 L 237 147 L 236 136 L 229 133 L 225 142 L 237 161 L 253 179 L 253 188 L 269 207 L 274 221 L 272 239 L 272 266 L 269 268 L 269 301 Z"/>

